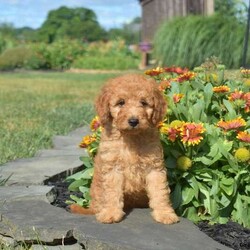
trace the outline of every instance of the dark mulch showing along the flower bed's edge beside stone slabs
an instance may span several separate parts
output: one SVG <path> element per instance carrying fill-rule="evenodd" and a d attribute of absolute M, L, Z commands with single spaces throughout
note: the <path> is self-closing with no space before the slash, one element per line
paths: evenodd
<path fill-rule="evenodd" d="M 62 180 L 48 182 L 48 185 L 54 186 L 57 192 L 57 199 L 52 205 L 66 209 L 66 200 L 69 200 L 70 194 L 68 184 Z M 238 223 L 228 222 L 227 224 L 209 225 L 207 221 L 198 224 L 199 229 L 223 245 L 235 250 L 250 250 L 250 229 L 244 228 Z"/>

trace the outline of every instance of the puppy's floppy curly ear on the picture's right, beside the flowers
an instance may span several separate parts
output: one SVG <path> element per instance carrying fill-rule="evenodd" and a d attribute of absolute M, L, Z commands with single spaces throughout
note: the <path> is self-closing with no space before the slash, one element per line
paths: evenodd
<path fill-rule="evenodd" d="M 167 103 L 163 97 L 163 94 L 155 88 L 153 90 L 154 99 L 154 111 L 152 115 L 152 123 L 156 126 L 160 121 L 163 120 L 166 114 Z"/>

